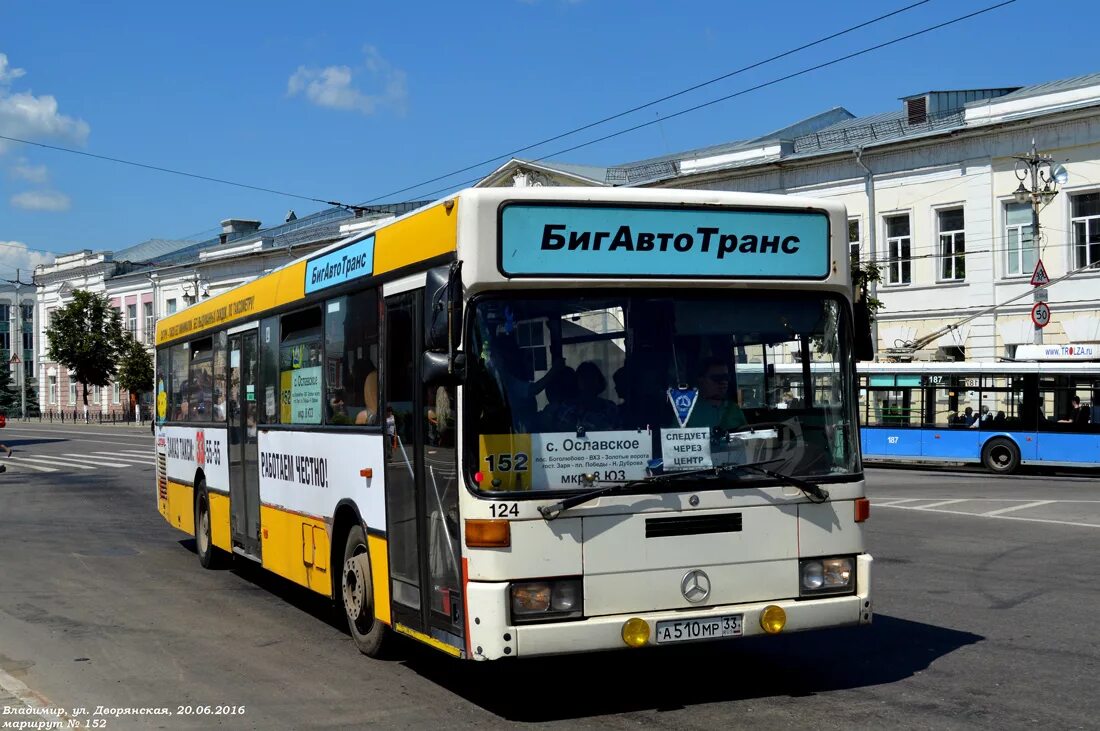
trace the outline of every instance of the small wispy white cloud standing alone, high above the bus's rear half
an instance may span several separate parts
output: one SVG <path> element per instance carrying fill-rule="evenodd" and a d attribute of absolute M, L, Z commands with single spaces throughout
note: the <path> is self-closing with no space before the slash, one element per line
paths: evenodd
<path fill-rule="evenodd" d="M 404 114 L 408 100 L 405 71 L 394 68 L 374 46 L 364 46 L 363 53 L 366 55 L 363 69 L 373 85 L 381 87 L 375 93 L 364 93 L 355 87 L 355 76 L 363 69 L 353 70 L 349 66 L 299 66 L 287 80 L 287 93 L 292 97 L 304 93 L 314 104 L 329 109 L 374 114 L 389 108 Z"/>

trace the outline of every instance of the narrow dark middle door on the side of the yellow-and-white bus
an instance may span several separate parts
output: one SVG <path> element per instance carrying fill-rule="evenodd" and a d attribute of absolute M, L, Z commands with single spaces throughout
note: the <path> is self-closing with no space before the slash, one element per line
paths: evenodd
<path fill-rule="evenodd" d="M 229 336 L 229 510 L 233 550 L 260 558 L 256 331 Z"/>

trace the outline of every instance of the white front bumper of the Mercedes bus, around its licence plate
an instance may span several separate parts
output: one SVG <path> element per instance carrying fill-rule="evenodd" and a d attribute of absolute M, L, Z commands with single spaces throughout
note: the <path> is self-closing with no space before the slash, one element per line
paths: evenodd
<path fill-rule="evenodd" d="M 471 611 L 474 609 L 499 608 L 497 611 L 472 613 L 481 620 L 471 622 L 471 655 L 474 660 L 497 660 L 501 657 L 535 657 L 603 650 L 625 650 L 624 625 L 628 620 L 640 619 L 649 628 L 649 638 L 644 646 L 667 646 L 690 642 L 706 642 L 721 639 L 737 639 L 768 634 L 761 624 L 761 616 L 768 607 L 779 607 L 785 613 L 785 623 L 778 634 L 820 630 L 838 627 L 870 624 L 873 616 L 870 592 L 871 556 L 862 554 L 856 560 L 855 595 L 823 597 L 813 599 L 780 599 L 737 605 L 715 605 L 695 610 L 653 611 L 632 614 L 592 617 L 578 621 L 547 622 L 541 624 L 507 624 L 507 584 L 473 583 L 468 585 Z M 477 614 L 497 614 L 495 618 Z M 685 623 L 691 620 L 718 620 L 740 616 L 739 632 L 726 636 L 690 636 Z M 503 620 L 498 624 L 492 620 Z M 486 621 L 487 620 L 487 621 Z M 673 628 L 658 636 L 658 624 L 674 621 L 681 628 L 675 638 Z M 704 622 L 706 623 L 706 622 Z M 491 632 L 488 627 L 503 625 L 503 631 Z M 488 625 L 488 627 L 486 627 Z M 667 627 L 664 624 L 662 628 Z M 485 628 L 485 629 L 482 629 Z M 692 627 L 691 629 L 694 629 Z"/>

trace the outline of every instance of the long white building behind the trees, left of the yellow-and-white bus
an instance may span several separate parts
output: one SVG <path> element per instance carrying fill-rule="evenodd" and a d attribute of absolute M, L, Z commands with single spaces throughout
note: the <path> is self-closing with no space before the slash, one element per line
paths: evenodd
<path fill-rule="evenodd" d="M 74 290 L 86 289 L 106 295 L 119 309 L 122 326 L 152 350 L 160 318 L 266 274 L 349 230 L 378 225 L 422 204 L 374 206 L 358 212 L 332 208 L 301 219 L 288 217 L 270 229 L 261 229 L 260 221 L 227 219 L 221 234 L 209 241 L 154 239 L 116 252 L 58 256 L 53 265 L 35 270 L 35 340 L 45 343 L 51 313 L 68 302 Z M 76 412 L 82 418 L 82 391 L 67 369 L 45 356 L 35 365 L 42 412 L 65 412 L 66 418 Z M 148 395 L 144 398 L 147 406 Z M 134 401 L 118 384 L 88 391 L 94 414 L 125 416 Z"/>

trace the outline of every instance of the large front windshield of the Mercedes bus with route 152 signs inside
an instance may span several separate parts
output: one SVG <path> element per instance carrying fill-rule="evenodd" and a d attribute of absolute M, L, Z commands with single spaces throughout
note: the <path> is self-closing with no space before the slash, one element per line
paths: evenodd
<path fill-rule="evenodd" d="M 860 469 L 839 299 L 524 292 L 482 297 L 472 314 L 466 443 L 482 490 L 761 462 L 810 477 Z"/>

